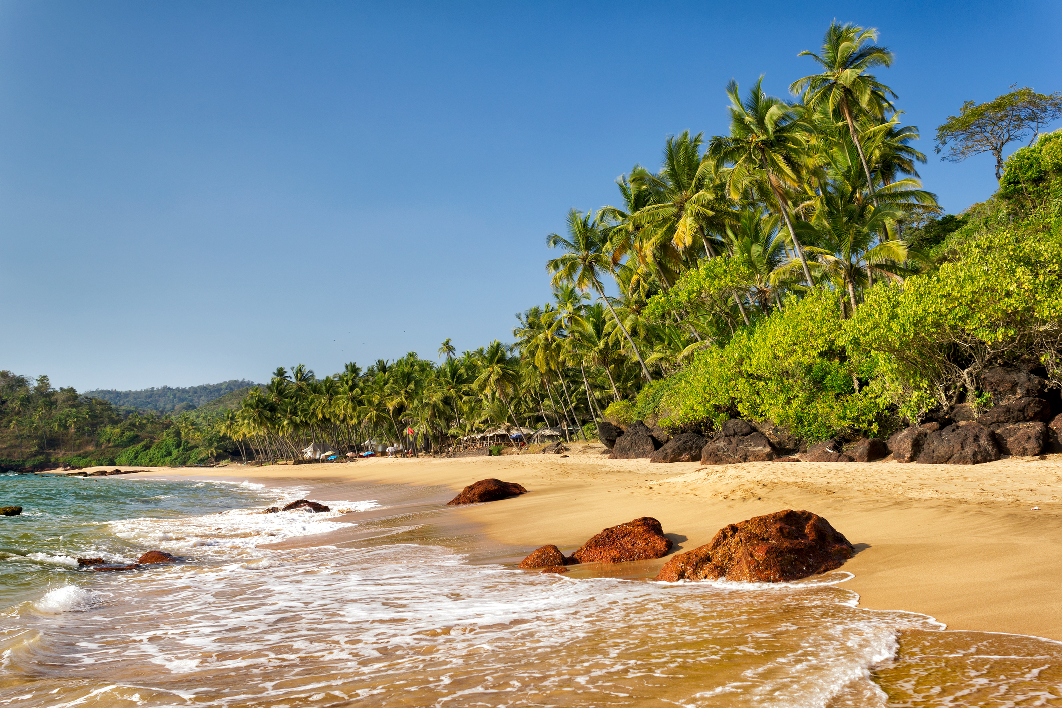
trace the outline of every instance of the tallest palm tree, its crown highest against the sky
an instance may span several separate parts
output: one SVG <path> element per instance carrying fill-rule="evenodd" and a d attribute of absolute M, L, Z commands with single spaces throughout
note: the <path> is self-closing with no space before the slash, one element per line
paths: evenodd
<path fill-rule="evenodd" d="M 888 48 L 871 44 L 876 39 L 877 30 L 873 28 L 863 29 L 851 22 L 838 24 L 835 20 L 822 38 L 821 55 L 808 50 L 798 54 L 813 58 L 822 66 L 822 72 L 798 79 L 789 86 L 793 93 L 804 93 L 804 104 L 809 109 L 821 105 L 833 115 L 835 107 L 840 108 L 849 124 L 852 141 L 859 151 L 871 198 L 874 197 L 874 179 L 863 154 L 859 131 L 856 129 L 855 110 L 880 119 L 885 109 L 892 107 L 886 94 L 896 98 L 891 88 L 867 73 L 873 67 L 892 64 L 892 52 Z"/>

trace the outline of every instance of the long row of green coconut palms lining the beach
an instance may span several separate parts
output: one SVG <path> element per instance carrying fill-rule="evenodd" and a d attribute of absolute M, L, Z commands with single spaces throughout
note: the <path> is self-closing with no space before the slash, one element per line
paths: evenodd
<path fill-rule="evenodd" d="M 727 135 L 672 136 L 657 172 L 616 180 L 618 206 L 571 209 L 546 237 L 564 252 L 547 262 L 552 298 L 517 315 L 513 345 L 457 356 L 447 340 L 438 364 L 410 353 L 322 379 L 279 368 L 225 431 L 268 457 L 374 438 L 439 451 L 496 426 L 585 435 L 611 402 L 789 298 L 828 291 L 851 316 L 876 283 L 926 267 L 903 227 L 937 208 L 919 131 L 871 73 L 893 61 L 876 41 L 833 23 L 802 52 L 818 72 L 791 84 L 795 101 L 731 82 Z"/>

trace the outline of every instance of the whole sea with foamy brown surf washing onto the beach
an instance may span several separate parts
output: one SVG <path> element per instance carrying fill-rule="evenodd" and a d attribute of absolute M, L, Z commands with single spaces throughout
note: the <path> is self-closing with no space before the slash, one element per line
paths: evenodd
<path fill-rule="evenodd" d="M 362 491 L 258 514 L 311 493 L 0 477 L 0 706 L 1062 705 L 1059 644 L 858 608 L 845 572 L 523 572 L 472 563 L 441 503 Z M 76 567 L 149 549 L 182 562 Z"/>

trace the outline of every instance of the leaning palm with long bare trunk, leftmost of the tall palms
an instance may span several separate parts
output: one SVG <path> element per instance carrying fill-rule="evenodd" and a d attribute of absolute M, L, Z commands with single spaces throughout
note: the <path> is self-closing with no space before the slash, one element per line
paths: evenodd
<path fill-rule="evenodd" d="M 604 271 L 612 272 L 612 260 L 604 253 L 606 241 L 602 231 L 601 223 L 597 219 L 592 219 L 588 212 L 584 214 L 576 209 L 568 211 L 568 238 L 558 234 L 550 234 L 546 237 L 546 245 L 550 248 L 561 246 L 568 253 L 548 261 L 546 270 L 553 274 L 554 287 L 569 283 L 583 292 L 593 289 L 601 296 L 612 312 L 616 325 L 634 350 L 634 356 L 638 358 L 641 373 L 645 374 L 648 381 L 652 381 L 653 377 L 641 358 L 641 352 L 638 351 L 637 345 L 604 294 L 601 274 Z"/>

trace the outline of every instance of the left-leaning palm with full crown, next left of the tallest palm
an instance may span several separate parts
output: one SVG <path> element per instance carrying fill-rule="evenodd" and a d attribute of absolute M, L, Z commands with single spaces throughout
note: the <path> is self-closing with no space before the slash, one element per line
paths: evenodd
<path fill-rule="evenodd" d="M 757 173 L 766 179 L 777 203 L 778 213 L 789 229 L 804 277 L 813 288 L 815 280 L 811 279 L 811 271 L 783 194 L 784 187 L 801 184 L 798 172 L 805 157 L 804 134 L 807 126 L 800 120 L 799 106 L 764 93 L 760 88 L 763 81 L 763 76 L 756 80 L 743 102 L 737 92 L 737 82 L 731 80 L 726 84 L 726 93 L 731 99 L 731 134 L 714 137 L 710 150 L 732 166 L 726 177 L 731 198 L 741 197 Z"/>

